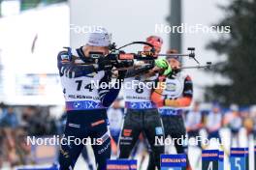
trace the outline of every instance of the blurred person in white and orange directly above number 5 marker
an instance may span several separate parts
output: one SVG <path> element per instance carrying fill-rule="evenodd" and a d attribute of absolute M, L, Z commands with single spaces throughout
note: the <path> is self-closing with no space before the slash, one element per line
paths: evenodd
<path fill-rule="evenodd" d="M 230 110 L 231 111 L 225 115 L 224 125 L 228 126 L 231 130 L 230 146 L 233 147 L 233 140 L 235 138 L 237 147 L 240 147 L 240 128 L 242 126 L 242 121 L 240 118 L 239 106 L 231 104 Z"/>

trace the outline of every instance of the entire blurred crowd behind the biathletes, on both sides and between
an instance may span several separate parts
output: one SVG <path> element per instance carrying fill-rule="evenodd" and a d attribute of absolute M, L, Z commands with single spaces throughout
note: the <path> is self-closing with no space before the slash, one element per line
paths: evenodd
<path fill-rule="evenodd" d="M 112 156 L 117 154 L 117 142 L 123 121 L 122 100 L 117 99 L 109 108 L 108 115 L 112 133 Z M 31 146 L 27 145 L 27 136 L 48 137 L 61 135 L 65 125 L 65 112 L 55 117 L 50 107 L 43 106 L 13 106 L 1 103 L 0 107 L 0 166 L 16 166 L 37 163 Z M 183 112 L 184 125 L 187 128 L 187 137 L 202 136 L 202 131 L 208 138 L 227 138 L 229 147 L 248 147 L 249 143 L 240 144 L 240 131 L 245 131 L 246 141 L 256 139 L 256 107 L 240 107 L 231 104 L 230 107 L 221 107 L 218 103 L 194 102 L 191 109 Z M 228 130 L 225 136 L 221 130 Z M 244 139 L 243 139 L 244 140 Z M 195 147 L 195 146 L 191 146 Z M 205 149 L 203 144 L 197 146 Z M 136 154 L 136 153 L 135 153 Z M 138 154 L 138 153 L 137 153 Z M 87 156 L 83 156 L 86 161 Z"/>

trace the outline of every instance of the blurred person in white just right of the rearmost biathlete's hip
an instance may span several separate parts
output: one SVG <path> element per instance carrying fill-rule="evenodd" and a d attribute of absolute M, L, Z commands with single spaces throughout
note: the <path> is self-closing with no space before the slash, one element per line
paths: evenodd
<path fill-rule="evenodd" d="M 199 131 L 203 127 L 202 124 L 202 114 L 199 110 L 200 103 L 195 102 L 193 110 L 189 111 L 186 116 L 186 130 L 188 134 L 188 139 L 197 136 L 200 136 Z M 199 148 L 202 149 L 201 142 L 199 140 Z"/>

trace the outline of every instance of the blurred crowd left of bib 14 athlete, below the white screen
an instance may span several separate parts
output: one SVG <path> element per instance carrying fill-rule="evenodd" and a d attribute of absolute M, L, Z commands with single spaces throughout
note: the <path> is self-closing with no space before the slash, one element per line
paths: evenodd
<path fill-rule="evenodd" d="M 49 108 L 42 106 L 0 107 L 0 165 L 31 164 L 31 146 L 26 137 L 47 136 L 58 133 L 59 120 L 49 115 Z"/>

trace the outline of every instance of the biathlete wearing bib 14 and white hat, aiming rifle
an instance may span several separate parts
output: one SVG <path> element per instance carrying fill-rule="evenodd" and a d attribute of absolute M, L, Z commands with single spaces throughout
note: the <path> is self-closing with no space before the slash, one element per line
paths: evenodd
<path fill-rule="evenodd" d="M 91 33 L 86 45 L 76 50 L 68 48 L 67 51 L 58 54 L 58 69 L 67 109 L 67 123 L 63 136 L 67 143 L 61 144 L 59 154 L 61 170 L 74 168 L 84 147 L 79 139 L 86 141 L 84 139 L 90 137 L 91 143 L 95 144 L 92 145 L 92 149 L 98 170 L 105 170 L 107 159 L 111 157 L 111 138 L 107 128 L 106 109 L 117 97 L 119 88 L 116 87 L 120 87 L 120 84 L 116 83 L 114 88 L 101 86 L 104 83 L 109 84 L 112 80 L 112 66 L 108 60 L 91 64 L 87 57 L 91 51 L 107 55 L 110 43 L 110 34 L 102 29 L 101 32 Z M 122 78 L 122 74 L 119 72 L 117 80 Z M 99 81 L 99 89 L 92 84 L 97 81 Z"/>

